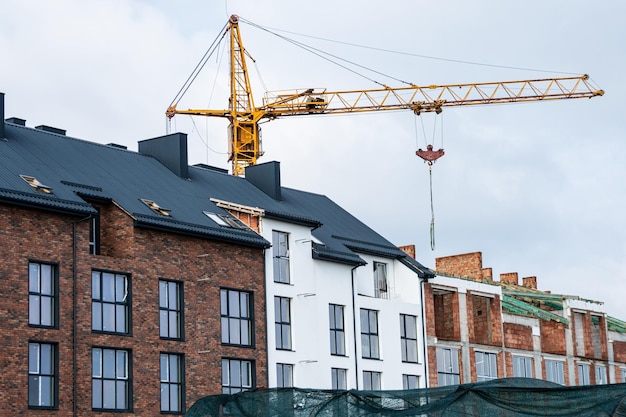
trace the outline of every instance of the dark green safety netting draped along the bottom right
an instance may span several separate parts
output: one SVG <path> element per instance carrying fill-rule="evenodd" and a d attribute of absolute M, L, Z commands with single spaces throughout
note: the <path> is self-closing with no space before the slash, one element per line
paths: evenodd
<path fill-rule="evenodd" d="M 198 400 L 185 417 L 624 416 L 626 384 L 563 387 L 530 378 L 404 391 L 276 388 Z"/>

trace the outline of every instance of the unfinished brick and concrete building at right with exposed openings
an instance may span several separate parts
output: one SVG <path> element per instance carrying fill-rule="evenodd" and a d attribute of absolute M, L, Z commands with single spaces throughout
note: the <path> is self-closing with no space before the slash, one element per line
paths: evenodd
<path fill-rule="evenodd" d="M 626 324 L 602 303 L 494 281 L 480 252 L 438 258 L 424 285 L 429 386 L 530 377 L 562 385 L 626 382 Z"/>

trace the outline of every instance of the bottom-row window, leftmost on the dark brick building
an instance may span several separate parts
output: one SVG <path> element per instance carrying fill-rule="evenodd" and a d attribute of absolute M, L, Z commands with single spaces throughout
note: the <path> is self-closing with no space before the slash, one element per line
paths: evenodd
<path fill-rule="evenodd" d="M 57 406 L 57 347 L 51 343 L 28 344 L 28 406 Z"/>

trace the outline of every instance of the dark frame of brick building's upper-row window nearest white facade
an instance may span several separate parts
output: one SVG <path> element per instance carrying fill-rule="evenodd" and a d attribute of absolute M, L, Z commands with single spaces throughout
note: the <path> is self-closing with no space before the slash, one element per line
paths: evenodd
<path fill-rule="evenodd" d="M 231 294 L 238 295 L 238 304 L 236 310 L 234 309 L 234 307 L 232 307 Z M 247 299 L 247 315 L 242 315 L 241 313 L 241 297 L 243 295 L 245 295 Z M 226 305 L 224 305 L 224 300 L 226 300 Z M 238 322 L 236 328 L 239 329 L 239 342 L 237 342 L 237 339 L 233 337 L 233 327 L 231 326 L 233 320 L 235 322 Z M 245 328 L 242 327 L 242 323 L 247 323 L 248 325 L 246 337 L 248 338 L 249 343 L 242 343 L 242 335 L 244 334 L 243 330 L 245 330 Z M 233 288 L 220 288 L 220 334 L 220 340 L 222 345 L 251 348 L 255 346 L 254 293 L 252 291 L 238 290 Z"/>

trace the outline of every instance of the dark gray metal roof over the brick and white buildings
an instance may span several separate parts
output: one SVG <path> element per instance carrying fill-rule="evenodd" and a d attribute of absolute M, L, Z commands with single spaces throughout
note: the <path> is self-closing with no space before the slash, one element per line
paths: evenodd
<path fill-rule="evenodd" d="M 112 200 L 138 227 L 151 227 L 210 239 L 268 247 L 269 242 L 246 229 L 224 228 L 203 211 L 228 215 L 210 199 L 258 207 L 270 218 L 311 227 L 320 243 L 313 256 L 362 265 L 358 255 L 400 259 L 418 274 L 432 274 L 388 240 L 328 197 L 291 188 L 275 200 L 245 178 L 203 166 L 189 166 L 181 178 L 157 159 L 119 147 L 100 145 L 52 132 L 6 123 L 0 141 L 0 200 L 77 214 L 93 213 L 86 199 Z M 51 188 L 35 190 L 20 175 L 35 177 Z M 156 214 L 142 199 L 169 210 Z"/>

